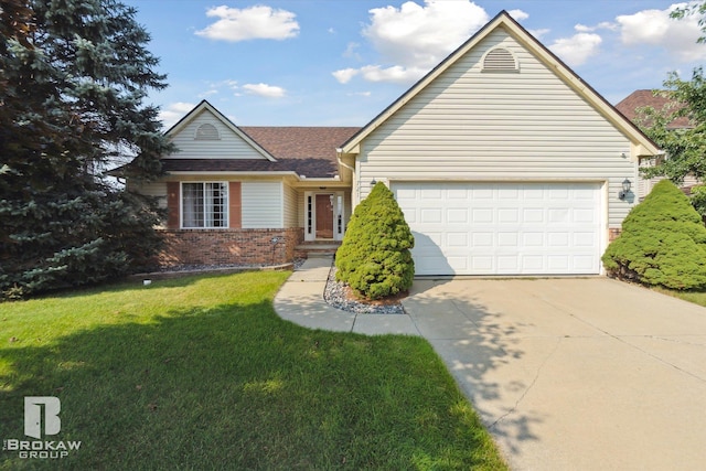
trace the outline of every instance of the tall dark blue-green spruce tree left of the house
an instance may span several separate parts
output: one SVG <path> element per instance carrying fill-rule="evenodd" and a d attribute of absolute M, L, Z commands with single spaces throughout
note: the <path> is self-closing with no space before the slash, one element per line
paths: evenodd
<path fill-rule="evenodd" d="M 157 204 L 101 172 L 133 156 L 130 176 L 150 180 L 171 150 L 142 104 L 165 87 L 149 34 L 115 0 L 0 2 L 17 20 L 0 46 L 0 299 L 141 268 Z"/>

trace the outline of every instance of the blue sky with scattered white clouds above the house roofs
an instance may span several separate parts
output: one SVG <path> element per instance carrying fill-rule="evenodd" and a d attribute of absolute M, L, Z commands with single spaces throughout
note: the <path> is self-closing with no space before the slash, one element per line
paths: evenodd
<path fill-rule="evenodd" d="M 501 10 L 610 103 L 706 62 L 661 0 L 124 0 L 151 34 L 173 125 L 207 99 L 242 126 L 364 126 Z"/>

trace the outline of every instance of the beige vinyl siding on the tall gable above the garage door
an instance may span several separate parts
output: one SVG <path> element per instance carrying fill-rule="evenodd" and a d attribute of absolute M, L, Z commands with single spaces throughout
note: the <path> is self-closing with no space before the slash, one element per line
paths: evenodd
<path fill-rule="evenodd" d="M 482 72 L 502 45 L 520 72 Z M 632 202 L 617 195 L 637 182 L 629 139 L 500 28 L 439 75 L 363 142 L 360 196 L 388 181 L 608 180 L 610 225 Z M 635 199 L 637 202 L 637 199 Z"/>

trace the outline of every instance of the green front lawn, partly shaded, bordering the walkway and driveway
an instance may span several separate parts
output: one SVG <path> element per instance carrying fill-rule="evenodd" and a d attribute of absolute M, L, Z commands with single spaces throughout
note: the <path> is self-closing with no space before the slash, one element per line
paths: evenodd
<path fill-rule="evenodd" d="M 79 440 L 0 469 L 505 469 L 422 339 L 311 331 L 271 299 L 286 272 L 119 283 L 0 304 L 0 437 L 24 396 Z"/>

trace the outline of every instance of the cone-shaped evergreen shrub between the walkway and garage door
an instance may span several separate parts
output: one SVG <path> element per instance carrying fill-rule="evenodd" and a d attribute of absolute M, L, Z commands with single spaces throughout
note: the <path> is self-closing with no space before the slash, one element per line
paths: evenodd
<path fill-rule="evenodd" d="M 368 299 L 404 292 L 415 276 L 414 245 L 393 192 L 377 183 L 351 216 L 335 255 L 336 278 Z"/>

